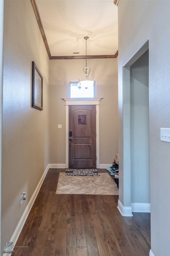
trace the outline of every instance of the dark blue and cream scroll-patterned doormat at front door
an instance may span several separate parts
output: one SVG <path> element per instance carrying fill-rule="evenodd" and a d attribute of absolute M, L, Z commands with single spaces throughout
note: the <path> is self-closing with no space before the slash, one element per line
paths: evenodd
<path fill-rule="evenodd" d="M 97 169 L 66 169 L 66 176 L 100 176 Z"/>

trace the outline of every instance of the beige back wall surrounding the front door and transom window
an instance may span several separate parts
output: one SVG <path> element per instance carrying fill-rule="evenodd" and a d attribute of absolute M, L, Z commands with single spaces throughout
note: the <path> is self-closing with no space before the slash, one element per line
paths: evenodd
<path fill-rule="evenodd" d="M 118 152 L 117 128 L 117 59 L 88 59 L 89 77 L 96 79 L 96 97 L 103 97 L 99 106 L 100 164 L 111 164 Z M 69 97 L 69 81 L 84 79 L 84 59 L 50 61 L 50 163 L 64 164 L 65 101 Z M 58 129 L 58 124 L 62 129 Z"/>

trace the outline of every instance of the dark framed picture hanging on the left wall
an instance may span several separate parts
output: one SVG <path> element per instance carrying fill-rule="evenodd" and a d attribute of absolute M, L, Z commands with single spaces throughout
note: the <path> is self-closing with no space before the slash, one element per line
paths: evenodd
<path fill-rule="evenodd" d="M 32 107 L 43 110 L 43 76 L 32 61 Z"/>

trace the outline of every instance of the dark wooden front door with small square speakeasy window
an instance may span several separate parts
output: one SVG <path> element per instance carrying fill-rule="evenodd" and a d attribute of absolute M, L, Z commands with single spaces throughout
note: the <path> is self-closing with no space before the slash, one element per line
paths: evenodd
<path fill-rule="evenodd" d="M 69 106 L 69 168 L 96 168 L 96 106 Z"/>

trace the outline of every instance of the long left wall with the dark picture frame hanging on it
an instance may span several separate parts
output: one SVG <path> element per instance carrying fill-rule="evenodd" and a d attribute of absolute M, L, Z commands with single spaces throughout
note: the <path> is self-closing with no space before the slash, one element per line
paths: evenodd
<path fill-rule="evenodd" d="M 10 241 L 49 163 L 48 55 L 31 1 L 5 1 L 4 8 L 2 245 Z M 32 61 L 44 79 L 43 111 L 31 107 Z M 23 191 L 27 199 L 20 205 Z"/>

